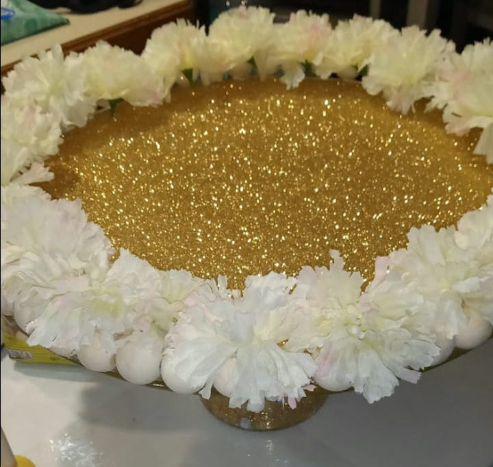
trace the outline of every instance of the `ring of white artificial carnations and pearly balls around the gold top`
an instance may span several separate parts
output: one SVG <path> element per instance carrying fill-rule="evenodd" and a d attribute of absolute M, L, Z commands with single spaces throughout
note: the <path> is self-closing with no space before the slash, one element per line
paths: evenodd
<path fill-rule="evenodd" d="M 62 132 L 112 99 L 157 105 L 175 83 L 225 74 L 277 73 L 289 88 L 307 65 L 323 79 L 364 74 L 366 91 L 400 112 L 429 98 L 447 131 L 483 128 L 475 152 L 493 162 L 490 40 L 458 54 L 438 31 L 399 32 L 359 16 L 331 28 L 327 15 L 303 11 L 278 25 L 264 8 L 240 8 L 221 14 L 207 36 L 186 21 L 165 25 L 142 56 L 98 43 L 64 58 L 55 46 L 17 64 L 1 100 L 2 310 L 29 344 L 76 354 L 92 370 L 116 367 L 133 383 L 162 376 L 170 389 L 205 398 L 214 386 L 231 407 L 260 411 L 265 398 L 295 405 L 312 383 L 353 387 L 371 403 L 399 379 L 416 382 L 454 346 L 488 339 L 493 195 L 457 226 L 412 228 L 407 248 L 377 258 L 364 291 L 362 276 L 332 251 L 328 268 L 251 276 L 240 292 L 225 277 L 158 271 L 126 250 L 111 263 L 110 241 L 79 200 L 50 200 L 29 185 L 53 177 L 43 164 Z"/>

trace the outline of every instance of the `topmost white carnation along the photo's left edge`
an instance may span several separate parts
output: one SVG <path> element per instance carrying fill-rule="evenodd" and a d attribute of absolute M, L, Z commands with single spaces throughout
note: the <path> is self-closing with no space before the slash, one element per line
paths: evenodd
<path fill-rule="evenodd" d="M 55 45 L 38 58 L 28 57 L 15 65 L 2 80 L 5 95 L 18 108 L 39 106 L 52 114 L 64 128 L 84 126 L 94 111 L 94 99 L 86 94 L 86 71 L 81 56 L 64 58 Z"/>

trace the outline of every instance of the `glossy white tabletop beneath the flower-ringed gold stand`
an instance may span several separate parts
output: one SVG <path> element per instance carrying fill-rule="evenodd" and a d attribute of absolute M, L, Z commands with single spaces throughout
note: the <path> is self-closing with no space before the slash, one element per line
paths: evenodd
<path fill-rule="evenodd" d="M 1 424 L 36 467 L 493 466 L 493 340 L 370 405 L 329 396 L 311 419 L 250 432 L 198 396 L 1 353 Z"/>

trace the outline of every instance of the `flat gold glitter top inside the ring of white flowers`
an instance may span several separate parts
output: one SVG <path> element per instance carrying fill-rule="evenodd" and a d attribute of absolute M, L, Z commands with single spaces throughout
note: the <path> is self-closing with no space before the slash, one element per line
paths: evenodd
<path fill-rule="evenodd" d="M 440 112 L 399 115 L 358 83 L 221 82 L 159 108 L 120 104 L 66 134 L 49 160 L 53 197 L 81 197 L 116 247 L 204 278 L 296 274 L 340 250 L 371 278 L 412 226 L 479 208 L 493 169 L 478 133 Z"/>

